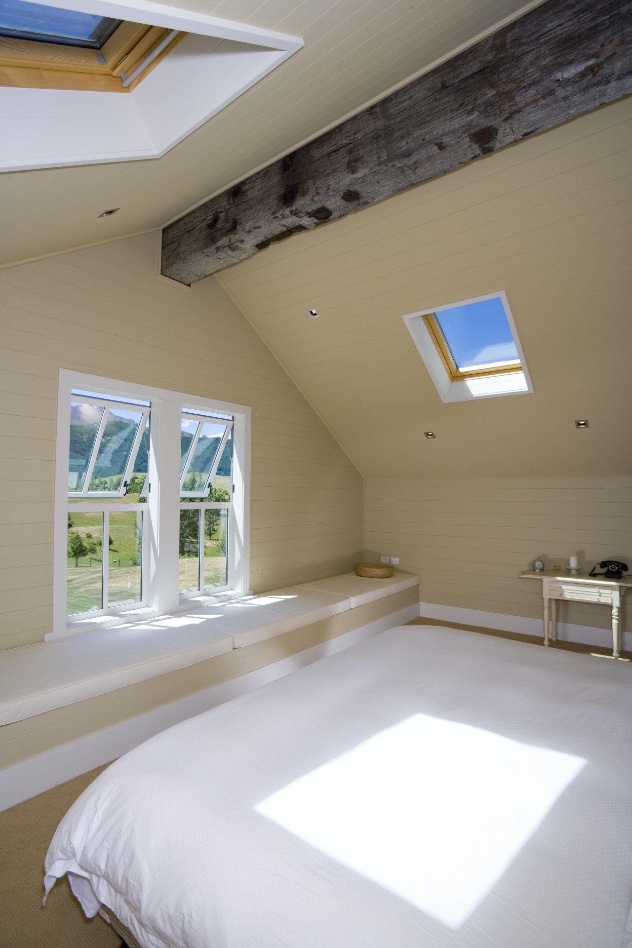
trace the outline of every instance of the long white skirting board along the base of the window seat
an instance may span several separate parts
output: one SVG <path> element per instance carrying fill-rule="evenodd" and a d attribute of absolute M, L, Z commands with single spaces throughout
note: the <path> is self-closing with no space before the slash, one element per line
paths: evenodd
<path fill-rule="evenodd" d="M 44 793 L 65 780 L 71 780 L 75 776 L 85 774 L 86 771 L 120 757 L 144 740 L 153 738 L 154 734 L 171 727 L 172 724 L 192 718 L 196 714 L 202 714 L 218 704 L 253 691 L 262 684 L 274 682 L 304 665 L 311 665 L 318 659 L 334 655 L 335 652 L 363 642 L 379 632 L 404 625 L 418 615 L 419 604 L 415 603 L 382 619 L 376 619 L 366 626 L 351 629 L 327 642 L 306 648 L 304 651 L 297 652 L 296 655 L 289 655 L 279 662 L 264 665 L 229 682 L 217 684 L 205 691 L 198 691 L 187 698 L 181 698 L 177 702 L 148 711 L 147 714 L 121 721 L 95 734 L 73 740 L 61 747 L 46 751 L 45 754 L 30 757 L 19 764 L 0 770 L 0 811 L 8 810 L 9 807 L 22 803 L 31 796 Z"/>

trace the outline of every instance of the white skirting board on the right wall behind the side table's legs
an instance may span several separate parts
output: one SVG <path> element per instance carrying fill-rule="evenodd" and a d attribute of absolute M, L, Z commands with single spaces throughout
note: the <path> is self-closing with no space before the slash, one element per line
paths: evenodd
<path fill-rule="evenodd" d="M 425 619 L 459 622 L 464 626 L 480 626 L 483 629 L 518 632 L 520 635 L 544 636 L 542 619 L 527 619 L 522 615 L 507 615 L 504 612 L 460 609 L 458 606 L 441 606 L 434 602 L 421 602 L 419 606 L 419 614 Z M 585 646 L 612 648 L 611 629 L 599 629 L 596 626 L 577 626 L 571 622 L 558 622 L 557 637 L 562 642 L 577 642 Z M 622 633 L 622 646 L 625 649 L 632 648 L 632 634 L 630 632 Z"/>

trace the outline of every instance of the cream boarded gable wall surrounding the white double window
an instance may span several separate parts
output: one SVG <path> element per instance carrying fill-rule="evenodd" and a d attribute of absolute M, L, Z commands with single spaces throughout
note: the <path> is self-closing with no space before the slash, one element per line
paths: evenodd
<path fill-rule="evenodd" d="M 60 368 L 252 406 L 251 585 L 352 569 L 362 479 L 214 278 L 158 277 L 159 235 L 0 270 L 0 648 L 51 628 Z"/>

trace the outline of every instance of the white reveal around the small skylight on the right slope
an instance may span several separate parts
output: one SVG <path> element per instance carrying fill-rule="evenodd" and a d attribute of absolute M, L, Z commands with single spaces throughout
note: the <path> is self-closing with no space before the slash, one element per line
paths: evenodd
<path fill-rule="evenodd" d="M 510 367 L 506 371 L 490 371 L 489 374 L 477 374 L 471 378 L 453 380 L 443 365 L 442 357 L 439 355 L 435 341 L 425 324 L 424 316 L 441 313 L 442 310 L 453 309 L 455 306 L 465 306 L 471 302 L 496 299 L 502 301 L 520 359 L 520 368 L 516 370 Z M 422 356 L 425 368 L 428 370 L 428 374 L 434 382 L 443 403 L 479 401 L 480 398 L 501 398 L 506 395 L 533 394 L 531 376 L 515 328 L 511 306 L 504 290 L 488 293 L 482 297 L 474 297 L 471 300 L 457 300 L 444 303 L 441 306 L 420 309 L 415 313 L 406 313 L 402 316 L 402 319 L 406 323 L 406 329 L 410 333 L 419 355 Z"/>

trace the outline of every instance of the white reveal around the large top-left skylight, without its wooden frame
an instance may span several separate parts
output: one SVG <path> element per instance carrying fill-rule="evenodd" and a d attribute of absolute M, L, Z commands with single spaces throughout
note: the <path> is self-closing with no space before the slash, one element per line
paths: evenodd
<path fill-rule="evenodd" d="M 57 4 L 41 6 L 54 19 Z M 303 45 L 296 36 L 150 0 L 63 0 L 63 7 L 186 35 L 124 94 L 120 77 L 116 95 L 0 85 L 0 172 L 164 155 Z"/>

